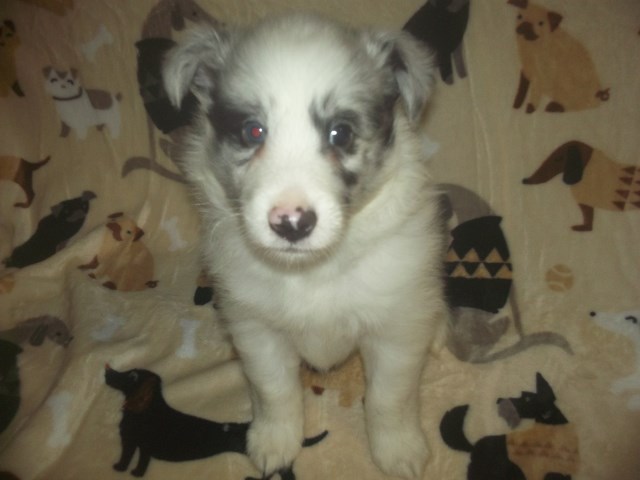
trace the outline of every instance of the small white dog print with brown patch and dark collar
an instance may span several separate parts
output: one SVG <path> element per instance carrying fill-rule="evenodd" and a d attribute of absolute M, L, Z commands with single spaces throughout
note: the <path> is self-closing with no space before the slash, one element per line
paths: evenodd
<path fill-rule="evenodd" d="M 54 100 L 62 121 L 61 137 L 69 136 L 74 129 L 78 138 L 84 140 L 89 128 L 96 127 L 101 131 L 106 126 L 111 137 L 118 138 L 122 95 L 83 88 L 78 71 L 73 68 L 59 71 L 46 67 L 42 73 L 47 93 Z"/>

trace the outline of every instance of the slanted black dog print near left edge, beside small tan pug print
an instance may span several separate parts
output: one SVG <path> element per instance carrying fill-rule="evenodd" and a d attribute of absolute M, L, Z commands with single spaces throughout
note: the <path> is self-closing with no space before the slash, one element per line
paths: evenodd
<path fill-rule="evenodd" d="M 62 250 L 67 241 L 84 225 L 89 201 L 96 194 L 85 191 L 79 197 L 64 200 L 51 207 L 51 214 L 38 222 L 35 233 L 4 260 L 7 267 L 22 268 L 42 262 Z"/>

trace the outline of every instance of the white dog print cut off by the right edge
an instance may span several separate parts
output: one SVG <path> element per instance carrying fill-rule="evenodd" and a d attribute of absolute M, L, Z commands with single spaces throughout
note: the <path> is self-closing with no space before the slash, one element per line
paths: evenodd
<path fill-rule="evenodd" d="M 640 410 L 640 309 L 624 312 L 591 312 L 591 318 L 600 327 L 631 340 L 636 358 L 633 372 L 611 384 L 611 392 L 620 395 L 632 393 L 627 407 Z"/>

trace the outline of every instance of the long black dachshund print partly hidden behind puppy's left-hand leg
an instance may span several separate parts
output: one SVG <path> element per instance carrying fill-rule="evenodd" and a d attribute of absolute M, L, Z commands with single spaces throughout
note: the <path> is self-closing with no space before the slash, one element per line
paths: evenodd
<path fill-rule="evenodd" d="M 218 423 L 179 412 L 165 401 L 162 380 L 155 373 L 105 368 L 107 385 L 125 396 L 120 421 L 122 454 L 113 465 L 115 470 L 125 471 L 136 450 L 138 465 L 131 471 L 136 477 L 145 474 L 151 458 L 184 462 L 226 452 L 246 454 L 249 423 Z M 327 435 L 324 431 L 306 439 L 303 446 L 315 445 Z M 275 473 L 283 480 L 295 480 L 292 468 Z"/>

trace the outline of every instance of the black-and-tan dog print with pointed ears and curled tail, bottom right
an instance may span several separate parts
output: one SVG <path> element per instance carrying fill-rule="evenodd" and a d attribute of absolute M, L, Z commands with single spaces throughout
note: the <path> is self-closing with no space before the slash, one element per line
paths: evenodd
<path fill-rule="evenodd" d="M 464 434 L 469 405 L 449 410 L 440 434 L 454 450 L 471 453 L 468 480 L 571 480 L 578 469 L 578 436 L 555 405 L 553 390 L 538 373 L 536 392 L 498 400 L 498 411 L 513 428 L 521 419 L 533 426 L 506 435 L 491 435 L 472 444 Z"/>

